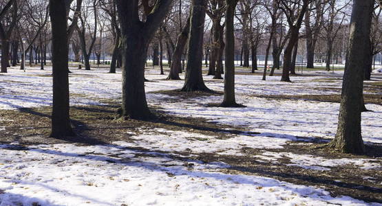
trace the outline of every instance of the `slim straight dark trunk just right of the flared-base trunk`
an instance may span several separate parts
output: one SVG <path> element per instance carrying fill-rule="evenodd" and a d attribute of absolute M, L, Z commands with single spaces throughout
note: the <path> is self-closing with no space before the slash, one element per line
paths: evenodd
<path fill-rule="evenodd" d="M 226 0 L 226 65 L 224 71 L 224 100 L 220 106 L 239 106 L 235 100 L 235 34 L 233 18 L 236 0 Z"/>

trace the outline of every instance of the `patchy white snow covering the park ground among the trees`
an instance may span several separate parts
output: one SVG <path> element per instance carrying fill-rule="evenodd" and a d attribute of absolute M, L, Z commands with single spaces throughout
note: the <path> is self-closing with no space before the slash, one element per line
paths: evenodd
<path fill-rule="evenodd" d="M 72 105 L 102 104 L 100 99 L 120 98 L 120 73 L 106 73 L 105 69 L 72 71 Z M 8 72 L 0 74 L 0 109 L 51 104 L 50 69 L 28 69 L 25 73 L 9 69 Z M 237 75 L 237 102 L 246 108 L 206 107 L 222 101 L 222 97 L 214 95 L 168 101 L 176 97 L 150 92 L 180 89 L 183 82 L 167 81 L 156 73 L 147 70 L 146 75 L 151 80 L 146 82 L 147 101 L 151 106 L 160 106 L 173 115 L 241 126 L 247 133 L 219 139 L 189 130 L 140 128 L 144 135 L 133 135 L 132 141 L 102 146 L 45 144 L 22 148 L 17 143 L 3 144 L 0 145 L 0 205 L 379 205 L 348 196 L 332 197 L 317 187 L 262 176 L 224 174 L 220 169 L 229 168 L 226 163 L 202 163 L 171 156 L 184 150 L 195 154 L 243 155 L 243 147 L 283 148 L 291 140 L 306 141 L 308 145 L 315 138 L 334 137 L 339 104 L 255 95 L 340 93 L 340 71 L 304 72 L 312 76 L 292 77 L 293 83 L 279 82 L 279 77 L 261 81 L 260 76 Z M 208 76 L 204 79 L 207 87 L 222 91 L 221 80 Z M 376 91 L 376 94 L 381 93 Z M 382 106 L 368 104 L 367 107 L 374 112 L 363 113 L 363 139 L 366 144 L 382 144 Z M 1 130 L 6 128 L 0 125 Z M 130 149 L 137 147 L 163 152 Z M 331 170 L 348 164 L 363 170 L 382 169 L 381 159 L 325 159 L 265 150 L 256 157 L 260 161 L 276 162 L 288 157 L 290 165 L 309 170 Z"/>

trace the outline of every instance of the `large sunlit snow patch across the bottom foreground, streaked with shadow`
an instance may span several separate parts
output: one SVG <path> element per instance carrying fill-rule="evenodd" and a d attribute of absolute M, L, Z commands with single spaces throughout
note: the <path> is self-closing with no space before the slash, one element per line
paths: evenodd
<path fill-rule="evenodd" d="M 120 146 L 10 148 L 0 150 L 0 188 L 6 192 L 0 205 L 365 205 L 315 187 L 222 174 L 221 163 Z"/>

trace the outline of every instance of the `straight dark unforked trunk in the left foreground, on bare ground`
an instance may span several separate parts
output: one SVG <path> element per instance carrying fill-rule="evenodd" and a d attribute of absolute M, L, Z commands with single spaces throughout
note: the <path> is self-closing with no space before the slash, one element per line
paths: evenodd
<path fill-rule="evenodd" d="M 52 21 L 53 104 L 50 137 L 74 136 L 70 126 L 67 18 L 64 0 L 50 0 Z"/>

